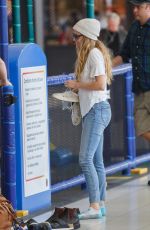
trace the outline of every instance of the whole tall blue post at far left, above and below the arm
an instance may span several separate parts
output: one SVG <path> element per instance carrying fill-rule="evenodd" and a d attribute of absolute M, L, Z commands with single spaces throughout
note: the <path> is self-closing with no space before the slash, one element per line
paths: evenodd
<path fill-rule="evenodd" d="M 8 18 L 7 1 L 0 0 L 0 57 L 4 60 L 8 69 Z M 1 88 L 1 145 L 2 145 L 2 168 L 1 168 L 1 191 L 4 196 L 16 208 L 16 149 L 15 149 L 15 124 L 13 86 Z M 10 100 L 10 101 L 9 101 Z M 10 103 L 10 105 L 9 105 Z"/>

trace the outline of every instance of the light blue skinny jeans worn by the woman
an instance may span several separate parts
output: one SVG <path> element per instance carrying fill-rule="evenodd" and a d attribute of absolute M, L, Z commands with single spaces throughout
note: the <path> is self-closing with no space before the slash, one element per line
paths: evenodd
<path fill-rule="evenodd" d="M 108 101 L 96 103 L 83 118 L 79 164 L 85 176 L 90 203 L 106 198 L 103 134 L 111 119 Z"/>

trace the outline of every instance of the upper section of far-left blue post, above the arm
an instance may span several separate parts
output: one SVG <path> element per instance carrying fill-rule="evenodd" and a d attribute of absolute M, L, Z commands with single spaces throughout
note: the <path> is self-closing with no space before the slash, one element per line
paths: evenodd
<path fill-rule="evenodd" d="M 6 67 L 8 67 L 8 20 L 6 0 L 0 0 L 0 22 L 0 57 L 5 62 Z"/>

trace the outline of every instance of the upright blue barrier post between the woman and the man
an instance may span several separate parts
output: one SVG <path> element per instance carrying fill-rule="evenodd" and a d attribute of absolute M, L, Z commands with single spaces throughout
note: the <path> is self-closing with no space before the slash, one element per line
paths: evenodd
<path fill-rule="evenodd" d="M 125 74 L 125 99 L 126 99 L 126 142 L 127 142 L 127 159 L 135 161 L 136 146 L 135 146 L 135 128 L 133 117 L 133 93 L 132 93 L 132 73 L 131 71 Z M 128 169 L 128 174 L 130 168 Z"/>

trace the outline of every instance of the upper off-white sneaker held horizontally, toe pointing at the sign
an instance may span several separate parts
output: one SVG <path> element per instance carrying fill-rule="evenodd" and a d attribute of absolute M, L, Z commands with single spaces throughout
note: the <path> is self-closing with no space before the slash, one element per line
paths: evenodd
<path fill-rule="evenodd" d="M 71 90 L 65 91 L 63 93 L 53 93 L 52 96 L 61 101 L 69 102 L 78 102 L 79 96 L 77 93 L 72 92 Z"/>

